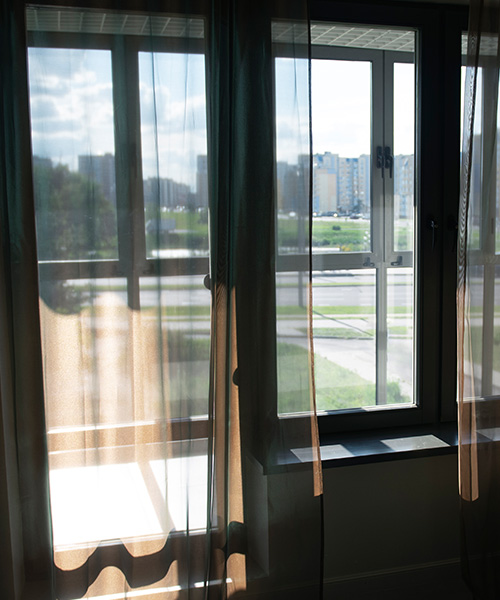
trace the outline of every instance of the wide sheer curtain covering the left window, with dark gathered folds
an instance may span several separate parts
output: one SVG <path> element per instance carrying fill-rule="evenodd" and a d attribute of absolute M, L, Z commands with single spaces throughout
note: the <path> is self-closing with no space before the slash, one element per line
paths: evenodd
<path fill-rule="evenodd" d="M 9 597 L 318 596 L 307 3 L 2 11 Z"/>

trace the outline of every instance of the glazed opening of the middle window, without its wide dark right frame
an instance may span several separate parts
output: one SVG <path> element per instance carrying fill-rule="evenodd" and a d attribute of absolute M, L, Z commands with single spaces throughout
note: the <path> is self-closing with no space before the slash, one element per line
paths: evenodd
<path fill-rule="evenodd" d="M 280 94 L 291 61 L 287 35 L 275 36 L 278 113 L 290 103 Z M 323 414 L 418 406 L 417 38 L 415 30 L 311 25 L 313 334 Z M 284 136 L 278 122 L 277 231 L 286 264 L 301 165 L 288 158 Z M 286 401 L 279 411 L 291 412 Z"/>

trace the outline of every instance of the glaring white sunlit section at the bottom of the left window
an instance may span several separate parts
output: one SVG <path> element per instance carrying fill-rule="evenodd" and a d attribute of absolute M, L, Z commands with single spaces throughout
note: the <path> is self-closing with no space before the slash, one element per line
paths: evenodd
<path fill-rule="evenodd" d="M 168 460 L 151 453 L 148 460 L 139 461 L 126 448 L 113 448 L 114 462 L 109 464 L 101 457 L 101 464 L 75 466 L 65 462 L 65 456 L 53 457 L 50 500 L 54 546 L 62 550 L 89 544 L 92 548 L 101 540 L 151 540 L 172 530 L 203 531 L 207 518 L 207 441 L 193 444 L 198 452 L 184 457 L 175 456 L 175 444 L 171 444 L 168 452 L 174 456 Z M 58 560 L 65 560 L 63 553 Z M 110 597 L 117 596 L 104 596 Z"/>

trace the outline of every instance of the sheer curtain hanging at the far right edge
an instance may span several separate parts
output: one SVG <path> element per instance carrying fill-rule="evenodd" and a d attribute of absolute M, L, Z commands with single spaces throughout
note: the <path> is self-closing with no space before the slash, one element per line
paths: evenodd
<path fill-rule="evenodd" d="M 458 371 L 464 575 L 500 594 L 500 4 L 470 5 L 459 225 Z"/>

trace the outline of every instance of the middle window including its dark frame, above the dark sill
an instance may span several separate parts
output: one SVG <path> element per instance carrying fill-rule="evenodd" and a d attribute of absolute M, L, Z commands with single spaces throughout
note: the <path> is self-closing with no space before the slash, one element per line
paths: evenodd
<path fill-rule="evenodd" d="M 311 24 L 313 334 L 324 433 L 454 418 L 459 156 L 451 148 L 463 15 L 447 14 L 446 33 L 432 10 L 359 16 L 317 7 Z M 297 63 L 289 35 L 274 31 L 277 113 L 291 102 L 280 93 Z M 286 264 L 283 239 L 297 218 L 290 182 L 304 169 L 279 123 L 276 137 Z M 279 411 L 282 419 L 293 412 L 285 403 Z"/>

